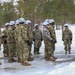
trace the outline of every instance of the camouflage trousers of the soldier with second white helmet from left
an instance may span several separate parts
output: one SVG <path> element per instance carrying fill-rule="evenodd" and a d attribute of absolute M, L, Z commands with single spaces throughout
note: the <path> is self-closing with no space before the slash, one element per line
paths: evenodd
<path fill-rule="evenodd" d="M 16 51 L 14 42 L 8 43 L 8 51 L 9 51 L 9 59 L 14 59 Z"/>

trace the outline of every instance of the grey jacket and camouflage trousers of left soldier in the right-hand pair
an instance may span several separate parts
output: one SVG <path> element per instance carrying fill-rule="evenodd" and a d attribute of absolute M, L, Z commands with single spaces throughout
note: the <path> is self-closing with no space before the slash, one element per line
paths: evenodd
<path fill-rule="evenodd" d="M 43 38 L 44 38 L 44 44 L 45 44 L 45 59 L 48 59 L 52 56 L 52 43 L 51 43 L 51 37 L 49 30 L 47 28 L 43 29 Z"/>

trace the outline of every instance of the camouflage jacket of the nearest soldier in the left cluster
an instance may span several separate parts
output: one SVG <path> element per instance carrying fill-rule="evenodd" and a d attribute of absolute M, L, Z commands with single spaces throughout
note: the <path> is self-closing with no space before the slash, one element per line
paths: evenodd
<path fill-rule="evenodd" d="M 28 33 L 27 33 L 27 27 L 23 24 L 20 24 L 15 29 L 15 39 L 17 42 L 25 43 L 25 41 L 28 41 Z"/>

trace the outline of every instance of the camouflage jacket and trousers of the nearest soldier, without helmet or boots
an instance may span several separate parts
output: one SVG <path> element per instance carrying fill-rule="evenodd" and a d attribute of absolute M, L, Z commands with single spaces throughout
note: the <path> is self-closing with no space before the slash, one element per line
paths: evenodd
<path fill-rule="evenodd" d="M 19 58 L 22 62 L 26 61 L 29 56 L 29 48 L 28 48 L 28 37 L 27 37 L 27 27 L 24 24 L 20 24 L 17 28 L 17 42 L 18 42 L 18 51 Z"/>

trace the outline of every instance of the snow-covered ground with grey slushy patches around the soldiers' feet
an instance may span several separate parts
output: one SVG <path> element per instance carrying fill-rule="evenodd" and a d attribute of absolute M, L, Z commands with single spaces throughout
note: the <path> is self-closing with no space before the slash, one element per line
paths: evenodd
<path fill-rule="evenodd" d="M 75 26 L 70 27 L 70 29 L 73 32 L 72 54 L 65 55 L 61 30 L 56 30 L 55 56 L 58 59 L 55 62 L 44 60 L 44 43 L 42 42 L 41 55 L 33 55 L 34 61 L 30 62 L 32 65 L 29 67 L 22 66 L 17 62 L 8 63 L 8 58 L 1 58 L 0 75 L 75 75 Z M 3 48 L 1 56 L 3 55 L 2 51 Z"/>

